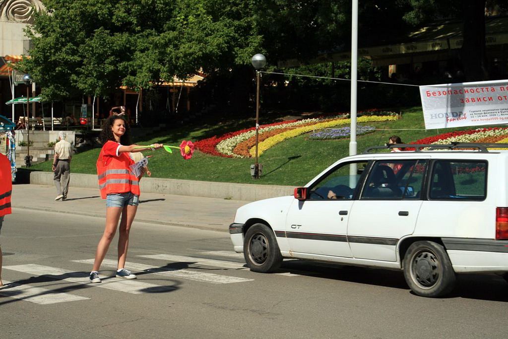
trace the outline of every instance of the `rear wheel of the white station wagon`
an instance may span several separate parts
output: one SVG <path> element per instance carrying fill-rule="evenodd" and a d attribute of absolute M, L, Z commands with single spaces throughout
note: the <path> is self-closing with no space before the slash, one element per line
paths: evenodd
<path fill-rule="evenodd" d="M 456 275 L 444 248 L 434 242 L 415 242 L 404 256 L 404 278 L 413 292 L 439 297 L 455 287 Z"/>

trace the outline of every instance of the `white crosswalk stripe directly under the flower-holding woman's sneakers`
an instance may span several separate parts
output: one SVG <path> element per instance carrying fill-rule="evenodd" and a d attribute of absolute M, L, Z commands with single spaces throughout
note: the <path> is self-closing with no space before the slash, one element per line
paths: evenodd
<path fill-rule="evenodd" d="M 93 260 L 92 260 L 93 262 Z M 116 266 L 115 266 L 116 267 Z M 102 287 L 110 290 L 127 292 L 132 294 L 140 294 L 145 292 L 165 292 L 174 290 L 175 287 L 161 286 L 155 284 L 144 283 L 141 281 L 124 280 L 124 279 L 103 279 L 100 284 L 92 284 L 88 280 L 88 275 L 83 272 L 73 272 L 57 267 L 43 266 L 36 264 L 4 266 L 5 269 L 16 270 L 22 273 L 34 274 L 39 276 L 53 276 L 59 280 L 70 281 L 77 284 L 87 284 L 94 287 Z"/>

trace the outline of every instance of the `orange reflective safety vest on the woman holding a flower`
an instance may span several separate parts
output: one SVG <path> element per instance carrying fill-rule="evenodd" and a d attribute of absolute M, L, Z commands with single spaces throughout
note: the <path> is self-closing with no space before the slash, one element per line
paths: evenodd
<path fill-rule="evenodd" d="M 108 141 L 108 143 L 113 143 L 113 141 Z M 97 159 L 97 175 L 99 176 L 101 197 L 106 199 L 106 195 L 110 193 L 126 192 L 140 195 L 139 180 L 129 168 L 134 160 L 131 159 L 128 153 L 122 152 L 117 157 L 109 157 L 108 160 L 111 161 L 108 164 L 106 164 L 103 156 L 104 147 L 99 154 L 99 159 Z"/>

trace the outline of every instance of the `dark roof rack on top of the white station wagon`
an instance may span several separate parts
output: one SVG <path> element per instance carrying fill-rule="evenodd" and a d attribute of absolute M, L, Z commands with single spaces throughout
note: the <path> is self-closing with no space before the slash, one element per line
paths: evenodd
<path fill-rule="evenodd" d="M 363 151 L 362 154 L 371 153 L 373 150 L 392 149 L 392 148 L 405 148 L 405 152 L 428 152 L 433 150 L 467 150 L 481 153 L 489 153 L 489 148 L 506 148 L 508 144 L 487 144 L 487 143 L 459 143 L 453 142 L 450 144 L 386 144 L 385 146 L 372 146 Z M 409 148 L 409 149 L 408 149 Z"/>

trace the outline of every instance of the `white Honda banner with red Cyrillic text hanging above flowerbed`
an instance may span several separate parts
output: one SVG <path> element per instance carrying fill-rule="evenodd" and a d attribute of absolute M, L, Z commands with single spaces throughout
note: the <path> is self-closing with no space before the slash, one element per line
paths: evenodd
<path fill-rule="evenodd" d="M 508 80 L 420 86 L 425 128 L 508 124 Z"/>

